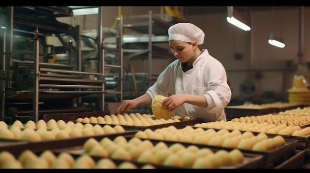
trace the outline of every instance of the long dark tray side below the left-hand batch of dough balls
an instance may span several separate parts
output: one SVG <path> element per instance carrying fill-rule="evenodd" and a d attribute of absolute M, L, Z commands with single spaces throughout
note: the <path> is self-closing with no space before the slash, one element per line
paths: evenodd
<path fill-rule="evenodd" d="M 76 138 L 62 138 L 62 139 L 52 139 L 52 140 L 41 140 L 41 141 L 20 141 L 19 144 L 15 145 L 5 145 L 0 146 L 0 151 L 6 150 L 11 152 L 13 155 L 19 155 L 25 149 L 29 149 L 33 152 L 40 152 L 43 150 L 59 149 L 59 148 L 70 148 L 81 146 L 89 138 L 95 138 L 101 140 L 104 137 L 116 138 L 117 136 L 125 136 L 137 133 L 138 131 L 125 131 L 123 133 L 113 133 L 113 134 L 104 134 L 104 135 L 94 135 L 94 136 L 85 136 L 85 137 L 76 137 Z M 2 139 L 5 141 L 5 139 Z M 11 141 L 8 139 L 6 142 Z"/>

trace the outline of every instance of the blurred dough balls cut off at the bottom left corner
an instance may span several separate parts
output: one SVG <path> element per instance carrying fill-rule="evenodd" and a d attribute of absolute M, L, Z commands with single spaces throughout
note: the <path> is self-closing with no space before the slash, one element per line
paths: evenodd
<path fill-rule="evenodd" d="M 36 155 L 31 150 L 24 150 L 18 158 L 8 151 L 0 152 L 0 169 L 138 169 L 135 164 L 124 161 L 117 165 L 109 158 L 97 162 L 87 154 L 74 158 L 71 154 L 61 152 L 55 155 L 45 150 Z M 140 169 L 155 169 L 153 165 L 145 164 Z"/>

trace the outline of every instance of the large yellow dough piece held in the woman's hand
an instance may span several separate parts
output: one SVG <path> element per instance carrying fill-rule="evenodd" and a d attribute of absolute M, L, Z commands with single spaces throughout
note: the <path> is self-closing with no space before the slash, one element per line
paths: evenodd
<path fill-rule="evenodd" d="M 167 97 L 157 95 L 152 101 L 152 111 L 154 116 L 158 119 L 163 118 L 167 120 L 170 119 L 173 115 L 173 110 L 168 110 L 165 107 L 161 106 L 163 100 L 165 100 L 166 98 Z"/>

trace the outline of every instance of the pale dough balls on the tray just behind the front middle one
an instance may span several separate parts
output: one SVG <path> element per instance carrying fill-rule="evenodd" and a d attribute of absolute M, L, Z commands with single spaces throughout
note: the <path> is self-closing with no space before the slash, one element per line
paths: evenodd
<path fill-rule="evenodd" d="M 214 129 L 194 129 L 191 126 L 186 126 L 183 129 L 174 129 L 172 127 L 173 126 L 156 129 L 155 131 L 146 129 L 144 131 L 137 132 L 135 137 L 248 149 L 254 151 L 270 151 L 285 145 L 285 140 L 282 136 L 268 138 L 265 133 L 260 133 L 255 136 L 252 132 L 245 132 L 242 134 L 239 130 L 229 132 L 226 129 L 221 129 L 216 132 Z"/>

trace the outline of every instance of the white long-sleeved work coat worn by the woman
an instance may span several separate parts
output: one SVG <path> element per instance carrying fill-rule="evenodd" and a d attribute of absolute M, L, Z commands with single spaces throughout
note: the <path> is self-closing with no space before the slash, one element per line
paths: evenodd
<path fill-rule="evenodd" d="M 193 63 L 193 69 L 184 72 L 179 60 L 173 61 L 158 76 L 157 81 L 147 93 L 152 100 L 156 95 L 165 97 L 174 94 L 193 94 L 205 96 L 207 107 L 182 104 L 174 110 L 180 117 L 203 118 L 205 122 L 227 121 L 225 107 L 231 99 L 231 89 L 223 65 L 209 55 L 207 49 Z"/>

